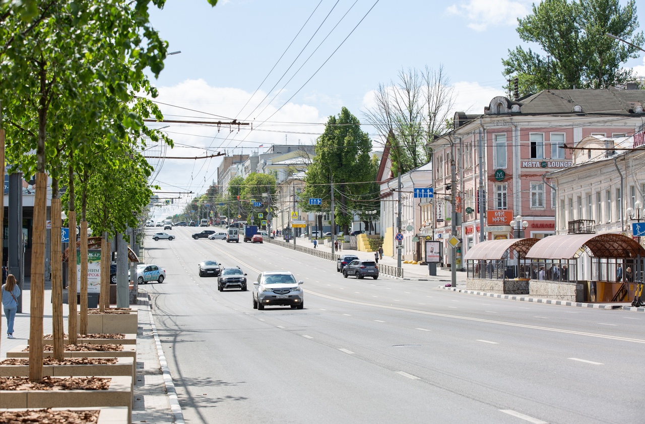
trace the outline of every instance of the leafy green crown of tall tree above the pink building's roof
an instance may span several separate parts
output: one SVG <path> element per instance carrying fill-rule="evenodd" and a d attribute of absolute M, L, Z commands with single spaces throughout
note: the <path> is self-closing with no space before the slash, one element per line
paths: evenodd
<path fill-rule="evenodd" d="M 608 88 L 624 84 L 631 71 L 620 68 L 639 57 L 639 49 L 606 37 L 611 33 L 642 46 L 634 0 L 544 0 L 518 19 L 522 40 L 537 43 L 546 55 L 521 46 L 502 59 L 504 75 L 519 78 L 520 96 L 542 89 Z"/>

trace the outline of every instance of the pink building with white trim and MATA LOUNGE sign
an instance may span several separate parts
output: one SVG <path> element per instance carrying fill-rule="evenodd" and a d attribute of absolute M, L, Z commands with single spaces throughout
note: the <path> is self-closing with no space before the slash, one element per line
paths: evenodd
<path fill-rule="evenodd" d="M 455 113 L 453 131 L 430 143 L 433 236 L 444 240 L 444 263 L 450 263 L 453 252 L 446 243 L 452 234 L 452 190 L 455 235 L 462 241 L 455 250 L 458 269 L 462 255 L 479 242 L 481 233 L 488 240 L 554 234 L 557 194 L 546 174 L 571 166 L 571 151 L 564 147 L 589 135 L 635 134 L 642 125 L 643 104 L 643 90 L 547 90 L 518 100 L 495 97 L 483 115 Z M 456 184 L 448 190 L 452 158 Z M 485 199 L 483 228 L 479 189 Z M 518 225 L 510 225 L 518 215 L 521 234 Z"/>

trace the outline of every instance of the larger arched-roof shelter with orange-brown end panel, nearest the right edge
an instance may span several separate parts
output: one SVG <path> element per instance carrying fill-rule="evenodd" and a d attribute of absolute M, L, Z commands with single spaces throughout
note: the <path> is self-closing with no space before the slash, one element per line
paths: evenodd
<path fill-rule="evenodd" d="M 551 235 L 533 244 L 529 294 L 575 302 L 627 302 L 642 281 L 645 249 L 622 234 Z"/>

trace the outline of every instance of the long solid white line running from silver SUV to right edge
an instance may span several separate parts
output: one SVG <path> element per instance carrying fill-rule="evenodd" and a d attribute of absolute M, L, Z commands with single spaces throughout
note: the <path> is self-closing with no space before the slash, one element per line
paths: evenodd
<path fill-rule="evenodd" d="M 541 331 L 551 331 L 553 333 L 606 338 L 609 340 L 620 340 L 622 342 L 633 342 L 633 343 L 645 344 L 645 340 L 642 338 L 622 337 L 622 336 L 615 336 L 615 335 L 608 335 L 608 334 L 601 334 L 601 333 L 587 333 L 585 331 L 575 331 L 575 330 L 568 330 L 568 329 L 557 328 L 557 327 L 534 326 L 531 324 L 520 324 L 519 322 L 498 321 L 498 320 L 491 320 L 486 318 L 464 317 L 461 315 L 450 315 L 448 313 L 438 313 L 438 312 L 430 312 L 430 311 L 421 311 L 419 309 L 402 308 L 401 306 L 379 305 L 379 304 L 368 303 L 368 302 L 357 302 L 356 300 L 340 299 L 338 297 L 323 295 L 322 293 L 316 293 L 315 291 L 311 291 L 311 290 L 306 290 L 306 292 L 310 293 L 310 295 L 312 296 L 324 297 L 325 299 L 336 300 L 337 302 L 345 302 L 345 303 L 351 303 L 355 305 L 370 306 L 372 308 L 393 309 L 395 311 L 418 313 L 421 315 L 432 315 L 433 317 L 453 318 L 453 319 L 464 320 L 464 321 L 486 322 L 488 324 L 497 324 L 500 326 L 530 328 L 530 329 L 536 329 Z"/>

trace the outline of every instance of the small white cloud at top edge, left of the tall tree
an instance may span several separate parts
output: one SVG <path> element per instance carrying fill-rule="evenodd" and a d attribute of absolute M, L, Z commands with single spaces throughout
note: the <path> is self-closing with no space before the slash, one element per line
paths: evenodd
<path fill-rule="evenodd" d="M 468 20 L 468 28 L 482 32 L 488 26 L 515 25 L 530 11 L 530 0 L 468 0 L 446 8 L 449 15 Z"/>

